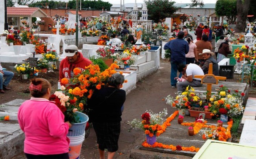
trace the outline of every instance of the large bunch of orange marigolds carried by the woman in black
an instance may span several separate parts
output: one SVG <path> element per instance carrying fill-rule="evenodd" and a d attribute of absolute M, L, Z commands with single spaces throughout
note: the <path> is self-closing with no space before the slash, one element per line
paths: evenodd
<path fill-rule="evenodd" d="M 61 84 L 65 85 L 66 88 L 64 94 L 69 96 L 70 99 L 74 99 L 80 110 L 86 109 L 87 99 L 91 98 L 96 89 L 100 90 L 101 87 L 104 87 L 107 84 L 108 78 L 112 74 L 117 73 L 115 69 L 118 68 L 119 66 L 115 63 L 112 63 L 103 72 L 100 72 L 98 65 L 89 65 L 83 71 L 75 68 L 73 70 L 73 78 L 61 79 Z"/>

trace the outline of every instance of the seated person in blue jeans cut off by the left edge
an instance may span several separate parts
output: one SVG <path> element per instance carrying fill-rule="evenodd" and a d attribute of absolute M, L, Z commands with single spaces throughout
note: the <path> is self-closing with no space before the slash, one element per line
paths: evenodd
<path fill-rule="evenodd" d="M 5 93 L 4 90 L 11 90 L 7 87 L 11 79 L 13 78 L 14 73 L 11 71 L 3 70 L 3 67 L 0 63 L 0 93 Z M 3 82 L 3 77 L 6 77 L 6 79 Z"/>

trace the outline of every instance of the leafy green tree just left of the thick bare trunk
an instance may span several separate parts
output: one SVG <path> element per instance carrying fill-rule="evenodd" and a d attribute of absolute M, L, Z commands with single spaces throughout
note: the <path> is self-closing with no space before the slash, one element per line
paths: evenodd
<path fill-rule="evenodd" d="M 226 16 L 228 23 L 234 24 L 237 16 L 236 0 L 217 0 L 215 13 L 217 16 Z"/>

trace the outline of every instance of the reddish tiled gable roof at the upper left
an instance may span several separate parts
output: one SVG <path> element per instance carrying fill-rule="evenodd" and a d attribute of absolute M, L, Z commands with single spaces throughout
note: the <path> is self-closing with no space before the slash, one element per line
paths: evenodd
<path fill-rule="evenodd" d="M 7 16 L 45 17 L 47 14 L 35 7 L 7 7 Z"/>

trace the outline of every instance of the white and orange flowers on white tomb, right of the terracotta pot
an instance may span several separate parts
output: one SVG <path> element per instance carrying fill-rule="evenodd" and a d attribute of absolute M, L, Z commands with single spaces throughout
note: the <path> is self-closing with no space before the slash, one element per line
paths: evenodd
<path fill-rule="evenodd" d="M 117 56 L 117 59 L 115 60 L 118 65 L 125 65 L 130 66 L 133 65 L 137 61 L 137 56 L 134 54 L 131 54 L 129 51 L 124 51 L 122 54 Z"/>

